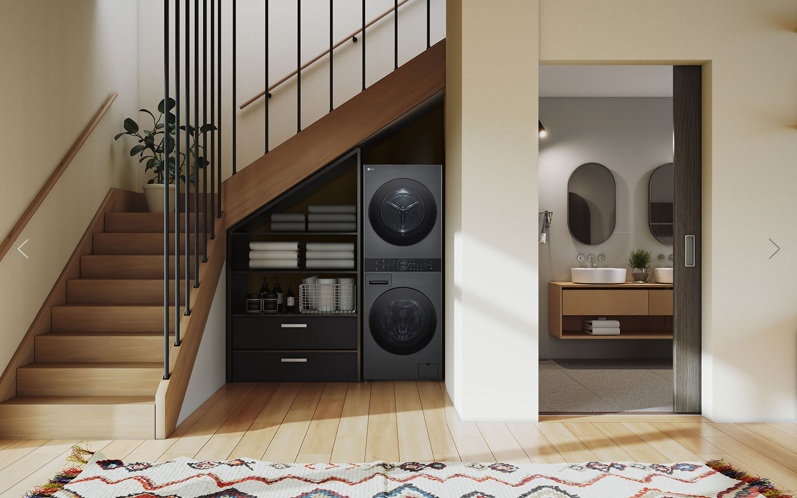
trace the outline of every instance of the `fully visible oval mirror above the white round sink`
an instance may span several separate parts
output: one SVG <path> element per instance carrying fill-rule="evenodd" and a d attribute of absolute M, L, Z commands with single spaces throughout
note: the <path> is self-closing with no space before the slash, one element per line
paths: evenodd
<path fill-rule="evenodd" d="M 567 180 L 567 226 L 575 240 L 602 244 L 614 232 L 614 174 L 599 163 L 575 168 Z"/>

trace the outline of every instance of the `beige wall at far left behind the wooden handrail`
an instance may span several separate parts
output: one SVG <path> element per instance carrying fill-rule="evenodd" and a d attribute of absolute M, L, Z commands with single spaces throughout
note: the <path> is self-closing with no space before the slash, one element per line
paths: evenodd
<path fill-rule="evenodd" d="M 135 3 L 116 0 L 0 1 L 5 238 L 80 131 L 112 92 L 116 101 L 0 261 L 0 368 L 5 368 L 112 186 L 135 188 L 134 165 L 113 142 L 135 112 Z"/>

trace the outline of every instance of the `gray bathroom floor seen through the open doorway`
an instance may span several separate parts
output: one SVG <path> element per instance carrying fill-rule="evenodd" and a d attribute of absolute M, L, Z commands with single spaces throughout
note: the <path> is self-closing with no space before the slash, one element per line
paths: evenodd
<path fill-rule="evenodd" d="M 634 411 L 673 411 L 672 360 L 540 360 L 540 413 Z"/>

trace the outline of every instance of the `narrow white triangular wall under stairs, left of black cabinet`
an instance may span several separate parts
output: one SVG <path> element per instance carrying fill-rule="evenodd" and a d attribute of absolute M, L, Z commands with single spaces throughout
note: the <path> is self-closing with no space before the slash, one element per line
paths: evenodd
<path fill-rule="evenodd" d="M 191 371 L 183 408 L 180 409 L 177 419 L 178 425 L 210 398 L 226 380 L 226 265 L 222 265 L 222 276 L 218 279 L 213 303 L 210 304 L 202 343 L 199 343 L 194 370 Z"/>

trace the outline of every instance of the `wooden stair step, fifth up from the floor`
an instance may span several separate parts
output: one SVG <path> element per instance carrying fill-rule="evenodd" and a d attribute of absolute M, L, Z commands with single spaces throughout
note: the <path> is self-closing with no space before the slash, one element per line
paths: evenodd
<path fill-rule="evenodd" d="M 180 280 L 179 289 L 180 304 L 185 304 L 185 280 Z M 66 283 L 66 303 L 163 304 L 163 276 L 152 279 L 81 278 L 68 280 Z M 169 304 L 175 304 L 175 280 L 169 280 Z"/>

